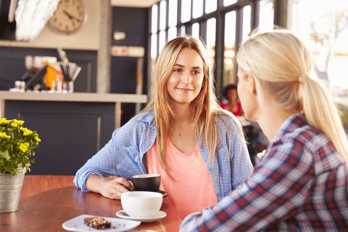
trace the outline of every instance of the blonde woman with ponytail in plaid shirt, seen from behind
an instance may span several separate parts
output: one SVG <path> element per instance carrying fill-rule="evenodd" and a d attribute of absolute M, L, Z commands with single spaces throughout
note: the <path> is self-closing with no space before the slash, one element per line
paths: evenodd
<path fill-rule="evenodd" d="M 290 31 L 253 32 L 237 63 L 245 117 L 271 143 L 252 175 L 180 231 L 347 231 L 347 135 L 310 77 L 310 51 Z"/>

